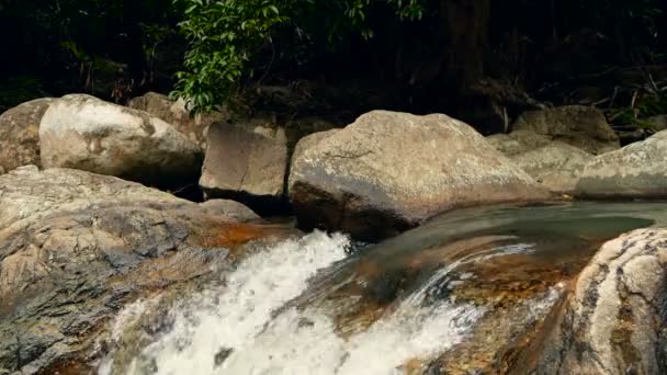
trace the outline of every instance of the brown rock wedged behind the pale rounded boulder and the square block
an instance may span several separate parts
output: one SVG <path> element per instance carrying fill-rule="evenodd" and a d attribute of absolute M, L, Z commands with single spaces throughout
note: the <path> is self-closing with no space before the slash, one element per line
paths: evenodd
<path fill-rule="evenodd" d="M 149 114 L 171 124 L 177 130 L 184 134 L 190 140 L 206 148 L 206 135 L 208 126 L 224 118 L 219 112 L 192 115 L 185 106 L 185 101 L 179 99 L 170 100 L 167 95 L 157 92 L 148 92 L 137 96 L 127 103 L 127 106 L 148 112 Z"/>

